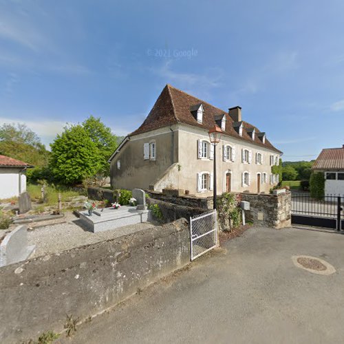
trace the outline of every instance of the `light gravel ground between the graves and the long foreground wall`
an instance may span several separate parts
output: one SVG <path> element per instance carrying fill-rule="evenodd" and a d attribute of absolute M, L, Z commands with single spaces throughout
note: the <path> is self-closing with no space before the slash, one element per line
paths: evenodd
<path fill-rule="evenodd" d="M 80 219 L 72 213 L 66 213 L 62 223 L 39 226 L 34 224 L 34 230 L 28 232 L 28 244 L 36 245 L 36 250 L 30 258 L 39 257 L 47 253 L 58 253 L 74 247 L 94 244 L 98 241 L 114 239 L 128 235 L 139 230 L 154 227 L 156 224 L 143 223 L 106 230 L 105 232 L 92 233 L 87 230 Z"/>

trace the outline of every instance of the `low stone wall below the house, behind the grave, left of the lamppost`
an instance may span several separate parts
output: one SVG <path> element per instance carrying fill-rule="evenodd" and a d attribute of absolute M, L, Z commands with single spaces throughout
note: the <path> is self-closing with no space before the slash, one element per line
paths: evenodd
<path fill-rule="evenodd" d="M 146 191 L 149 197 L 155 200 L 178 204 L 180 206 L 191 206 L 195 208 L 213 209 L 213 197 L 196 197 L 189 195 L 170 196 L 158 191 Z"/>

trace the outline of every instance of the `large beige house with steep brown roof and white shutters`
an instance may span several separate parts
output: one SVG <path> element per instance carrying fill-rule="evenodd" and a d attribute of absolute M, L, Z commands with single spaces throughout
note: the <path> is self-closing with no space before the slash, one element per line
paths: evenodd
<path fill-rule="evenodd" d="M 208 136 L 214 125 L 222 129 L 216 147 Z M 142 125 L 111 155 L 111 186 L 212 195 L 214 149 L 217 193 L 268 193 L 279 182 L 271 166 L 279 163 L 281 151 L 242 120 L 241 107 L 226 112 L 166 85 Z"/>

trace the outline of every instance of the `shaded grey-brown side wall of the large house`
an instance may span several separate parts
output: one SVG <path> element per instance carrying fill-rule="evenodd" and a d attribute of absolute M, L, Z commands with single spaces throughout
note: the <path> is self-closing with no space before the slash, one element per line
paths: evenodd
<path fill-rule="evenodd" d="M 155 141 L 155 160 L 144 160 L 143 145 Z M 120 169 L 117 162 L 120 160 Z M 133 136 L 111 161 L 113 189 L 149 189 L 169 166 L 178 162 L 178 131 L 155 131 Z"/>

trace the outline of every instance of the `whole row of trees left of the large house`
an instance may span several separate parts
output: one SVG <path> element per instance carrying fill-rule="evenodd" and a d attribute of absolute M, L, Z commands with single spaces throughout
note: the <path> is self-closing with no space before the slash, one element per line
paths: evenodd
<path fill-rule="evenodd" d="M 75 185 L 87 178 L 105 178 L 110 174 L 107 160 L 122 137 L 94 116 L 77 125 L 67 124 L 50 144 L 48 151 L 39 136 L 25 124 L 0 127 L 0 154 L 32 164 L 28 180 L 47 180 Z"/>

